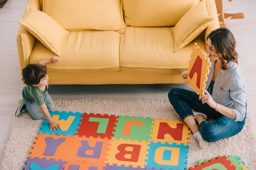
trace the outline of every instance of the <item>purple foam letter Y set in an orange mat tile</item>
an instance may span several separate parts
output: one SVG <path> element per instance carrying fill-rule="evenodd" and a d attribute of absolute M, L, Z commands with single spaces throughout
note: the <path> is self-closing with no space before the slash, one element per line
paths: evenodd
<path fill-rule="evenodd" d="M 53 139 L 52 137 L 44 138 L 46 143 L 46 149 L 44 150 L 45 156 L 54 156 L 57 150 L 57 147 L 61 145 L 66 139 L 65 138 L 58 138 Z"/>

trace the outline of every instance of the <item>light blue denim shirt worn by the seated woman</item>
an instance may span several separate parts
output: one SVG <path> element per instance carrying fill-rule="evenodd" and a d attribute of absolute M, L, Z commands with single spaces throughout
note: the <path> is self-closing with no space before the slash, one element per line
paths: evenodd
<path fill-rule="evenodd" d="M 210 60 L 210 62 L 212 65 L 209 68 L 205 89 L 209 87 L 214 74 L 215 61 Z M 230 66 L 228 70 L 218 71 L 212 90 L 212 99 L 220 105 L 233 108 L 236 113 L 235 121 L 238 122 L 244 119 L 246 112 L 245 80 L 241 69 L 235 62 L 230 61 L 228 64 Z"/>

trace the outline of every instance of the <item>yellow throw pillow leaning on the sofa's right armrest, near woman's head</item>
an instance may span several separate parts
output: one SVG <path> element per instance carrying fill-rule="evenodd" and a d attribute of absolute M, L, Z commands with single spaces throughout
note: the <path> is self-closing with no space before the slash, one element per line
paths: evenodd
<path fill-rule="evenodd" d="M 208 0 L 202 0 L 192 7 L 175 25 L 170 28 L 174 37 L 174 50 L 178 51 L 201 34 L 210 22 L 214 20 Z"/>

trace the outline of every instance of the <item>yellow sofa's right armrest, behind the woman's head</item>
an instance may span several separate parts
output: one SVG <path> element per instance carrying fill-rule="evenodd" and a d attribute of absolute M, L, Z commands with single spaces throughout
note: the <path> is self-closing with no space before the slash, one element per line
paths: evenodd
<path fill-rule="evenodd" d="M 208 2 L 209 2 L 209 8 L 214 20 L 211 21 L 210 25 L 203 32 L 206 49 L 207 49 L 207 36 L 215 29 L 220 28 L 215 0 L 208 0 Z"/>

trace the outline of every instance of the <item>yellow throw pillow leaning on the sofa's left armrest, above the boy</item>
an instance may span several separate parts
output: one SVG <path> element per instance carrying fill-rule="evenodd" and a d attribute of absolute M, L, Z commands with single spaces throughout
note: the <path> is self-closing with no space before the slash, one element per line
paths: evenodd
<path fill-rule="evenodd" d="M 26 13 L 19 21 L 27 31 L 56 55 L 61 55 L 61 43 L 69 34 L 55 20 L 42 11 L 26 6 Z"/>

